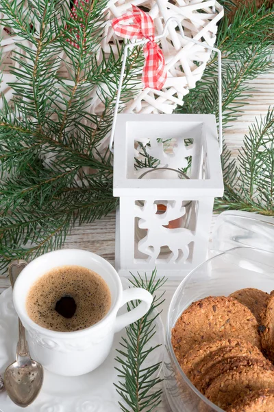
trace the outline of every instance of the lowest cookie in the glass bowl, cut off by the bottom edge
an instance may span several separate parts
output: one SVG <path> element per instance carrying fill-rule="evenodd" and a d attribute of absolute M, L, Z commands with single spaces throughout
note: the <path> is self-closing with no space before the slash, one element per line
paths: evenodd
<path fill-rule="evenodd" d="M 273 412 L 274 390 L 261 389 L 240 398 L 227 409 L 227 412 Z"/>

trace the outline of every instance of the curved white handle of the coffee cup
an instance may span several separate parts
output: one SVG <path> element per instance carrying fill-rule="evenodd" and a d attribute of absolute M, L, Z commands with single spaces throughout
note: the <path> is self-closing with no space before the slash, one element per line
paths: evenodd
<path fill-rule="evenodd" d="M 141 303 L 129 312 L 116 317 L 116 321 L 114 324 L 114 333 L 119 332 L 120 330 L 125 328 L 125 326 L 130 325 L 130 323 L 134 323 L 138 321 L 138 319 L 140 319 L 141 317 L 145 316 L 145 314 L 151 307 L 153 297 L 151 293 L 142 288 L 126 289 L 123 290 L 120 308 L 127 302 L 132 300 L 140 300 Z"/>

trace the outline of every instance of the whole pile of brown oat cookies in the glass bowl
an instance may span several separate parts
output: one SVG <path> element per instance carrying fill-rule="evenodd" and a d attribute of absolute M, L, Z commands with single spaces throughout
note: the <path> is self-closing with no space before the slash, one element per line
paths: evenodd
<path fill-rule="evenodd" d="M 196 301 L 171 339 L 186 376 L 218 407 L 274 411 L 274 294 L 247 288 Z"/>

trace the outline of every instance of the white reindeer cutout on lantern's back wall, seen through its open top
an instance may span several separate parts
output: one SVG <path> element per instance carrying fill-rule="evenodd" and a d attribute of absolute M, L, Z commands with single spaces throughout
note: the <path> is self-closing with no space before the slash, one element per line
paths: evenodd
<path fill-rule="evenodd" d="M 186 157 L 192 156 L 193 145 L 186 146 L 184 139 L 176 139 L 175 145 L 171 146 L 171 148 L 172 152 L 166 153 L 164 151 L 164 143 L 157 141 L 157 139 L 151 139 L 150 147 L 146 146 L 149 156 L 159 159 L 161 165 L 174 169 L 186 168 L 188 165 Z"/>

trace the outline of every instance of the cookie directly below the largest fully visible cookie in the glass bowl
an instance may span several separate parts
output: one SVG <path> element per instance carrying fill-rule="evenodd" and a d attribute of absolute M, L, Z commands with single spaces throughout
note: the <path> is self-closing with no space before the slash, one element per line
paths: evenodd
<path fill-rule="evenodd" d="M 192 372 L 195 372 L 195 370 L 198 370 L 199 373 L 199 365 L 205 358 L 211 356 L 218 350 L 227 348 L 231 350 L 232 347 L 239 348 L 239 351 L 241 352 L 242 350 L 247 350 L 249 354 L 252 354 L 254 349 L 256 350 L 256 354 L 260 353 L 260 350 L 243 339 L 216 339 L 215 341 L 206 341 L 199 345 L 195 345 L 186 356 L 179 358 L 178 361 L 186 376 L 190 378 Z"/>

